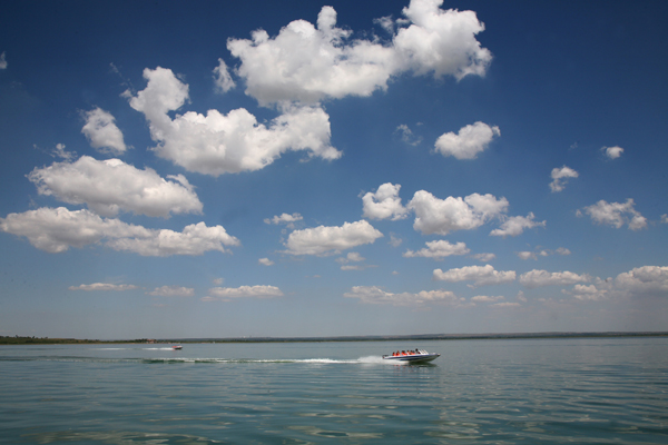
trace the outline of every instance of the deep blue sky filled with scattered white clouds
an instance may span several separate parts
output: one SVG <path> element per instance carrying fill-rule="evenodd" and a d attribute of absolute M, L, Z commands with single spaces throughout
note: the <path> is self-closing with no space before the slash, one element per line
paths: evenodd
<path fill-rule="evenodd" d="M 665 1 L 21 1 L 0 335 L 668 330 Z"/>

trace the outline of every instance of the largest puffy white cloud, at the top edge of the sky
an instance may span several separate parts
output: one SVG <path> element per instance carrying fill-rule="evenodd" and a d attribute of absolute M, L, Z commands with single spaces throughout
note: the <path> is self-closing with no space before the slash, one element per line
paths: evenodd
<path fill-rule="evenodd" d="M 406 71 L 435 78 L 484 76 L 492 56 L 475 40 L 484 26 L 475 12 L 444 11 L 441 4 L 412 0 L 391 44 L 351 39 L 352 31 L 336 27 L 334 8 L 323 7 L 317 27 L 295 20 L 274 38 L 257 30 L 252 40 L 229 39 L 227 49 L 242 61 L 237 72 L 246 93 L 262 105 L 371 96 Z M 390 19 L 383 23 L 393 29 Z"/>

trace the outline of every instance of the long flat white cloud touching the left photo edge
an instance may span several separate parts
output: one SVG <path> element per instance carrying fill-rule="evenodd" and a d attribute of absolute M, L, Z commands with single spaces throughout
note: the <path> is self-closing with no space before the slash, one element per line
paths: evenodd
<path fill-rule="evenodd" d="M 40 250 L 62 253 L 106 241 L 115 250 L 143 256 L 203 255 L 208 250 L 226 253 L 224 246 L 239 241 L 222 226 L 204 222 L 186 226 L 181 233 L 169 229 L 147 229 L 118 219 L 100 218 L 89 210 L 70 211 L 65 207 L 40 208 L 0 218 L 2 231 L 24 236 Z"/>

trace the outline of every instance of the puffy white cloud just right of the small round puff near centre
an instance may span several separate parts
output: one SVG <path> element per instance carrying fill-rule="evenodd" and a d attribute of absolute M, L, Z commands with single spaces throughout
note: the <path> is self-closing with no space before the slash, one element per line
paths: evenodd
<path fill-rule="evenodd" d="M 505 198 L 497 199 L 490 194 L 439 199 L 429 191 L 419 190 L 407 208 L 415 211 L 415 230 L 423 235 L 448 235 L 454 230 L 478 228 L 507 211 L 508 205 Z"/>

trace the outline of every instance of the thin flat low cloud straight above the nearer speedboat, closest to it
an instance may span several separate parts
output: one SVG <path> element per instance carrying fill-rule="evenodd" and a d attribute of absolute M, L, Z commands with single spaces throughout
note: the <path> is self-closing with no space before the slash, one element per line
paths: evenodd
<path fill-rule="evenodd" d="M 351 291 L 343 294 L 346 298 L 358 298 L 364 304 L 419 306 L 429 303 L 460 306 L 464 298 L 458 298 L 450 290 L 422 290 L 418 294 L 392 294 L 377 286 L 353 286 Z"/>

